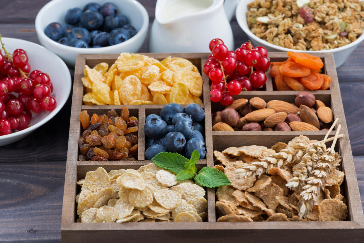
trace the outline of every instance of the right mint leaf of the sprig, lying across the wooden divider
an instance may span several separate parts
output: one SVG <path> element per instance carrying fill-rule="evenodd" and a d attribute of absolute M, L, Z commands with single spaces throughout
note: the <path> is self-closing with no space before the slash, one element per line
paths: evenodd
<path fill-rule="evenodd" d="M 230 185 L 229 178 L 222 171 L 210 167 L 203 167 L 195 176 L 195 181 L 203 187 L 209 188 Z"/>

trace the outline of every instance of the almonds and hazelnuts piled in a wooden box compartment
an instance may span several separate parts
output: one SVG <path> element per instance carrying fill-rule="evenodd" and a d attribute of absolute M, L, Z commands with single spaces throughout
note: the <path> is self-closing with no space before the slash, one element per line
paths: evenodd
<path fill-rule="evenodd" d="M 328 130 L 333 120 L 330 107 L 313 94 L 300 92 L 294 103 L 253 97 L 237 99 L 212 114 L 212 130 L 226 131 L 319 131 Z"/>

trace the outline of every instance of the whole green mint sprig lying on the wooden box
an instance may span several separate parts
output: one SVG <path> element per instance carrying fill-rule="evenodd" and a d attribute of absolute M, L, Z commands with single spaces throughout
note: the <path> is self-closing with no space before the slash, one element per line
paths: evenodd
<path fill-rule="evenodd" d="M 229 178 L 215 168 L 203 167 L 198 174 L 196 164 L 200 154 L 198 150 L 194 150 L 190 160 L 178 153 L 162 152 L 152 158 L 155 165 L 173 171 L 177 174 L 177 180 L 194 179 L 203 187 L 220 187 L 230 185 Z"/>

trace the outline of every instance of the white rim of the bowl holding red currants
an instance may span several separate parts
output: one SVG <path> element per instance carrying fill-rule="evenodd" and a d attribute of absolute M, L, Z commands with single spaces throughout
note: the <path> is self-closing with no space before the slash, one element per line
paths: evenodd
<path fill-rule="evenodd" d="M 58 66 L 59 68 L 61 68 L 64 72 L 66 72 L 66 77 L 67 79 L 63 79 L 63 89 L 66 90 L 66 94 L 67 97 L 63 100 L 63 102 L 58 103 L 57 101 L 57 107 L 56 109 L 52 110 L 50 113 L 48 113 L 46 115 L 46 117 L 44 117 L 43 119 L 41 119 L 41 121 L 37 122 L 36 124 L 29 126 L 28 128 L 25 128 L 24 130 L 21 131 L 17 131 L 11 134 L 7 134 L 7 135 L 2 135 L 0 136 L 0 141 L 5 141 L 11 138 L 15 138 L 15 137 L 20 137 L 22 135 L 27 136 L 28 133 L 31 133 L 33 130 L 36 130 L 37 128 L 39 128 L 40 126 L 44 125 L 46 122 L 48 122 L 50 119 L 52 119 L 64 106 L 64 104 L 67 102 L 68 97 L 70 96 L 71 93 L 71 74 L 70 74 L 70 70 L 68 70 L 68 67 L 66 65 L 66 63 L 63 62 L 63 60 L 57 56 L 54 52 L 48 50 L 47 48 L 40 46 L 39 44 L 33 43 L 33 42 L 29 42 L 27 40 L 21 40 L 21 39 L 16 39 L 16 38 L 7 38 L 7 37 L 3 37 L 1 38 L 3 40 L 3 42 L 9 41 L 19 41 L 19 42 L 27 42 L 30 45 L 35 46 L 36 48 L 41 48 L 44 49 L 44 51 L 48 52 L 51 55 L 52 58 L 52 62 L 58 61 L 60 66 Z M 32 50 L 33 51 L 33 50 Z M 68 74 L 68 75 L 67 75 Z"/>

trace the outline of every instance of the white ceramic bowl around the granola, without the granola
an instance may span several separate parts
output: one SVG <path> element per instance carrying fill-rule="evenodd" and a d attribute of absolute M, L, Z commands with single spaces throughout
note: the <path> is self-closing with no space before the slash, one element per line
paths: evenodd
<path fill-rule="evenodd" d="M 254 35 L 246 23 L 246 15 L 245 13 L 248 11 L 247 4 L 250 3 L 252 0 L 241 0 L 236 8 L 236 19 L 238 21 L 238 24 L 242 28 L 242 30 L 248 35 L 250 41 L 254 46 L 263 46 L 268 51 L 297 51 L 289 48 L 284 48 L 280 46 L 276 46 L 273 44 L 270 44 L 266 42 L 265 40 L 262 40 L 258 38 L 256 35 Z M 349 55 L 355 50 L 355 48 L 364 40 L 364 34 L 362 34 L 357 40 L 354 42 L 347 44 L 346 46 L 330 49 L 330 50 L 323 50 L 323 51 L 300 51 L 300 52 L 307 52 L 310 54 L 315 53 L 327 53 L 332 52 L 334 54 L 335 59 L 335 65 L 336 67 L 341 66 L 345 62 L 345 60 L 349 57 Z"/>

